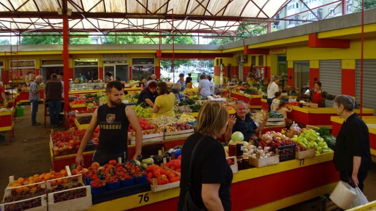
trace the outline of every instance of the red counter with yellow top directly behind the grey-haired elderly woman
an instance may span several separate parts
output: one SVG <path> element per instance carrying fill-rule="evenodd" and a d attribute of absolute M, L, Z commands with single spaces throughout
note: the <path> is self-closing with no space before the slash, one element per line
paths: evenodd
<path fill-rule="evenodd" d="M 371 154 L 376 156 L 376 116 L 363 116 L 362 119 L 368 126 Z M 332 129 L 331 134 L 337 137 L 343 124 L 343 118 L 336 116 L 330 117 L 330 120 Z"/>

